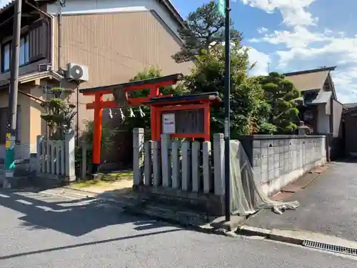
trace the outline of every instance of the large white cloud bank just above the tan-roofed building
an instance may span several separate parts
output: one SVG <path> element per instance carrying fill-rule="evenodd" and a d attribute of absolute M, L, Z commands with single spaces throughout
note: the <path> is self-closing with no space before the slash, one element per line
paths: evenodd
<path fill-rule="evenodd" d="M 299 38 L 300 37 L 300 38 Z M 341 33 L 308 31 L 297 28 L 293 31 L 275 31 L 262 39 L 270 44 L 283 44 L 286 49 L 276 51 L 278 69 L 308 69 L 318 66 L 337 66 L 333 79 L 338 100 L 357 101 L 357 37 L 346 38 Z M 354 92 L 354 93 L 353 93 Z"/>

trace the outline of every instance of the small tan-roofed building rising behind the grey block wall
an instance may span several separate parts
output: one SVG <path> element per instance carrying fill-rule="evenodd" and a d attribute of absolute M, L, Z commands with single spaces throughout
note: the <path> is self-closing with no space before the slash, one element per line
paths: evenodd
<path fill-rule="evenodd" d="M 335 69 L 333 66 L 284 74 L 301 91 L 300 120 L 313 129 L 313 134 L 328 136 L 332 158 L 343 152 L 343 106 L 337 100 L 331 77 Z"/>

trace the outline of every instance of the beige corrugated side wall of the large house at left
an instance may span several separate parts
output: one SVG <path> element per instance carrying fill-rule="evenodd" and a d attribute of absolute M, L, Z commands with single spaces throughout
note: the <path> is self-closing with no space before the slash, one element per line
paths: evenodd
<path fill-rule="evenodd" d="M 139 71 L 156 65 L 162 74 L 188 74 L 191 63 L 176 64 L 171 58 L 181 41 L 154 11 L 112 14 L 64 15 L 61 66 L 68 62 L 89 66 L 89 81 L 80 88 L 119 84 Z M 54 67 L 58 66 L 58 36 L 55 19 Z M 76 94 L 72 96 L 76 102 Z M 92 97 L 80 96 L 79 122 L 93 119 L 85 104 Z"/>

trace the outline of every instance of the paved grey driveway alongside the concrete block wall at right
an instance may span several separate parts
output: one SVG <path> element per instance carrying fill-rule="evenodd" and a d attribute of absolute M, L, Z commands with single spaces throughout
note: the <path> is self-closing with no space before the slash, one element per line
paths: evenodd
<path fill-rule="evenodd" d="M 321 232 L 357 241 L 357 161 L 333 162 L 308 188 L 293 194 L 296 211 L 263 211 L 246 224 L 266 229 Z"/>

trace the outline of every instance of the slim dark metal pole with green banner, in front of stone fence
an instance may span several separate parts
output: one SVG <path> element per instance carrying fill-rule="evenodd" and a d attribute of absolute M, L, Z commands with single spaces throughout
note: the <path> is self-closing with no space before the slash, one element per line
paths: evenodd
<path fill-rule="evenodd" d="M 231 220 L 231 0 L 218 0 L 218 11 L 225 16 L 225 64 L 224 76 L 224 207 L 226 222 Z"/>

